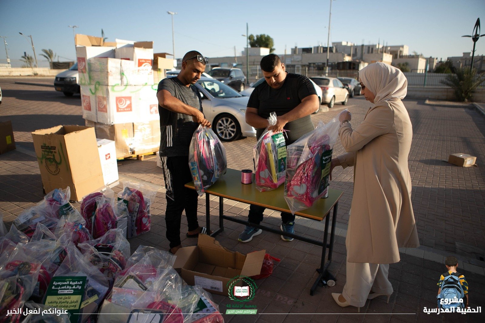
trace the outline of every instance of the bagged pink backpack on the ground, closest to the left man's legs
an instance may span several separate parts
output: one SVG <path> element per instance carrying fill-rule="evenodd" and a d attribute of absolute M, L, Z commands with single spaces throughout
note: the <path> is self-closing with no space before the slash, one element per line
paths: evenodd
<path fill-rule="evenodd" d="M 128 208 L 127 238 L 150 231 L 150 205 L 156 194 L 157 191 L 150 186 L 123 182 L 123 191 L 118 194 L 118 199 L 123 200 Z"/>

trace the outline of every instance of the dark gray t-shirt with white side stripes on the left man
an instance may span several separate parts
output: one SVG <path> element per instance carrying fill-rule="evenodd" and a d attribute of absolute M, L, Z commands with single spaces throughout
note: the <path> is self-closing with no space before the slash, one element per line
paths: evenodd
<path fill-rule="evenodd" d="M 183 85 L 177 77 L 163 79 L 158 91 L 167 90 L 173 97 L 202 112 L 200 94 L 194 85 Z M 157 91 L 157 93 L 158 93 Z M 198 124 L 192 116 L 158 106 L 160 113 L 160 156 L 188 156 L 190 141 Z"/>

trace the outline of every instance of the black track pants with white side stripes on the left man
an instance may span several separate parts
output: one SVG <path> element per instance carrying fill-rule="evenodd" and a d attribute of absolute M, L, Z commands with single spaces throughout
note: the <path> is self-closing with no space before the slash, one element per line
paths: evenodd
<path fill-rule="evenodd" d="M 167 210 L 165 225 L 170 248 L 180 245 L 180 220 L 185 210 L 189 231 L 199 227 L 197 222 L 197 191 L 185 187 L 192 181 L 188 156 L 161 157 L 165 189 L 167 190 Z"/>

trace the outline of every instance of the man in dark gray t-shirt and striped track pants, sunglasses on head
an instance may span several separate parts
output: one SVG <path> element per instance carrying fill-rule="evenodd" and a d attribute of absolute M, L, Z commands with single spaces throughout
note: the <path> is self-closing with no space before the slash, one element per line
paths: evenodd
<path fill-rule="evenodd" d="M 197 197 L 194 190 L 185 187 L 192 180 L 189 169 L 189 146 L 198 125 L 210 128 L 202 113 L 200 94 L 193 85 L 204 72 L 207 57 L 198 51 L 186 53 L 177 77 L 163 79 L 158 84 L 157 98 L 160 113 L 160 158 L 165 179 L 167 210 L 165 212 L 166 236 L 170 252 L 181 247 L 180 220 L 185 210 L 188 237 L 206 233 L 197 222 Z"/>

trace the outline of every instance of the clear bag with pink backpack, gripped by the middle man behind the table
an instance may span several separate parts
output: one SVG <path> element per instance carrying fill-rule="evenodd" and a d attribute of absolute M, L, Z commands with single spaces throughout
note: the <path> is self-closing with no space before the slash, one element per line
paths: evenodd
<path fill-rule="evenodd" d="M 276 124 L 276 113 L 270 114 L 268 122 L 270 126 Z M 256 189 L 259 192 L 275 190 L 285 182 L 287 151 L 283 133 L 266 129 L 253 151 Z"/>

